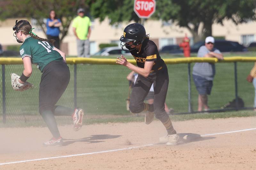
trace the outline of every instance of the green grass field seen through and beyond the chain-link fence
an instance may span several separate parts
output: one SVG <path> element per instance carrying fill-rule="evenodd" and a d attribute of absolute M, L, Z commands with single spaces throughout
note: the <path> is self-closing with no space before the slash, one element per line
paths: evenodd
<path fill-rule="evenodd" d="M 255 56 L 255 54 L 226 54 L 225 56 Z M 177 56 L 162 55 L 162 58 L 174 57 Z M 108 56 L 108 58 L 116 58 L 116 56 Z M 244 100 L 245 107 L 253 106 L 254 88 L 252 84 L 246 81 L 246 76 L 252 69 L 253 64 L 252 62 L 237 63 L 238 96 Z M 191 73 L 193 65 L 192 63 Z M 211 109 L 220 109 L 221 106 L 235 98 L 234 63 L 216 63 L 215 65 L 216 75 L 212 94 L 208 100 Z M 187 112 L 188 64 L 169 64 L 167 66 L 170 79 L 166 98 L 167 106 L 172 107 L 176 113 Z M 71 74 L 70 83 L 57 104 L 74 107 L 74 66 L 69 65 L 69 68 Z M 2 72 L 2 67 L 0 67 L 0 70 Z M 33 74 L 28 81 L 37 87 L 25 92 L 16 92 L 11 87 L 10 74 L 17 73 L 19 75 L 22 70 L 22 65 L 5 65 L 6 114 L 7 122 L 10 123 L 23 115 L 39 115 L 38 91 L 41 73 L 33 66 Z M 77 106 L 83 108 L 88 115 L 130 115 L 130 112 L 126 110 L 126 99 L 128 98 L 128 81 L 126 76 L 129 72 L 129 69 L 119 65 L 77 64 Z M 0 79 L 2 89 L 2 74 Z M 196 110 L 198 93 L 192 78 L 191 86 L 192 108 Z M 0 96 L 2 98 L 2 90 Z M 2 122 L 2 102 L 0 110 L 0 122 Z M 244 112 L 239 111 L 236 113 Z M 226 113 L 223 114 L 225 115 Z M 186 116 L 190 117 L 192 115 Z M 133 120 L 133 118 L 129 119 Z M 135 119 L 140 120 L 140 118 Z M 97 122 L 97 120 L 92 122 Z"/>

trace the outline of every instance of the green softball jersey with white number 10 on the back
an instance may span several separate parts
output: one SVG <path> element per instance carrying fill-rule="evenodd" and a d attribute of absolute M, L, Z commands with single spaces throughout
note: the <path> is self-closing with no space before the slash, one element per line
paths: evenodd
<path fill-rule="evenodd" d="M 58 51 L 53 50 L 55 47 L 47 41 L 40 41 L 28 36 L 20 46 L 21 58 L 28 56 L 31 62 L 36 64 L 37 68 L 43 72 L 44 67 L 55 60 L 63 60 Z"/>

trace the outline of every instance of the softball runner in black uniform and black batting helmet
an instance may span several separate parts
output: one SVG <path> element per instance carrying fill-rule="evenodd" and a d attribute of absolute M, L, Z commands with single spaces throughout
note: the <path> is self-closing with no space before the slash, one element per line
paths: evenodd
<path fill-rule="evenodd" d="M 145 28 L 133 23 L 124 28 L 124 35 L 120 38 L 121 47 L 128 48 L 137 62 L 137 66 L 129 63 L 121 55 L 117 57 L 116 63 L 124 65 L 139 74 L 130 98 L 130 111 L 140 113 L 148 111 L 145 116 L 145 123 L 149 124 L 154 120 L 154 113 L 165 126 L 168 135 L 160 138 L 160 142 L 167 142 L 166 145 L 175 145 L 178 135 L 172 126 L 169 115 L 164 110 L 164 102 L 168 90 L 168 70 L 161 59 L 156 44 L 149 40 Z M 151 85 L 154 84 L 154 103 L 144 103 Z"/>

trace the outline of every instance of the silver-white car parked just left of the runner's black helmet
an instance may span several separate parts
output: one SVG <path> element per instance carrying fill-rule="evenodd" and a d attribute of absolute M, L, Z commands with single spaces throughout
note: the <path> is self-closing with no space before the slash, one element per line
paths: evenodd
<path fill-rule="evenodd" d="M 102 48 L 97 53 L 93 54 L 94 56 L 108 56 L 108 55 L 131 55 L 130 51 L 125 48 L 124 50 L 121 47 L 106 47 Z"/>

